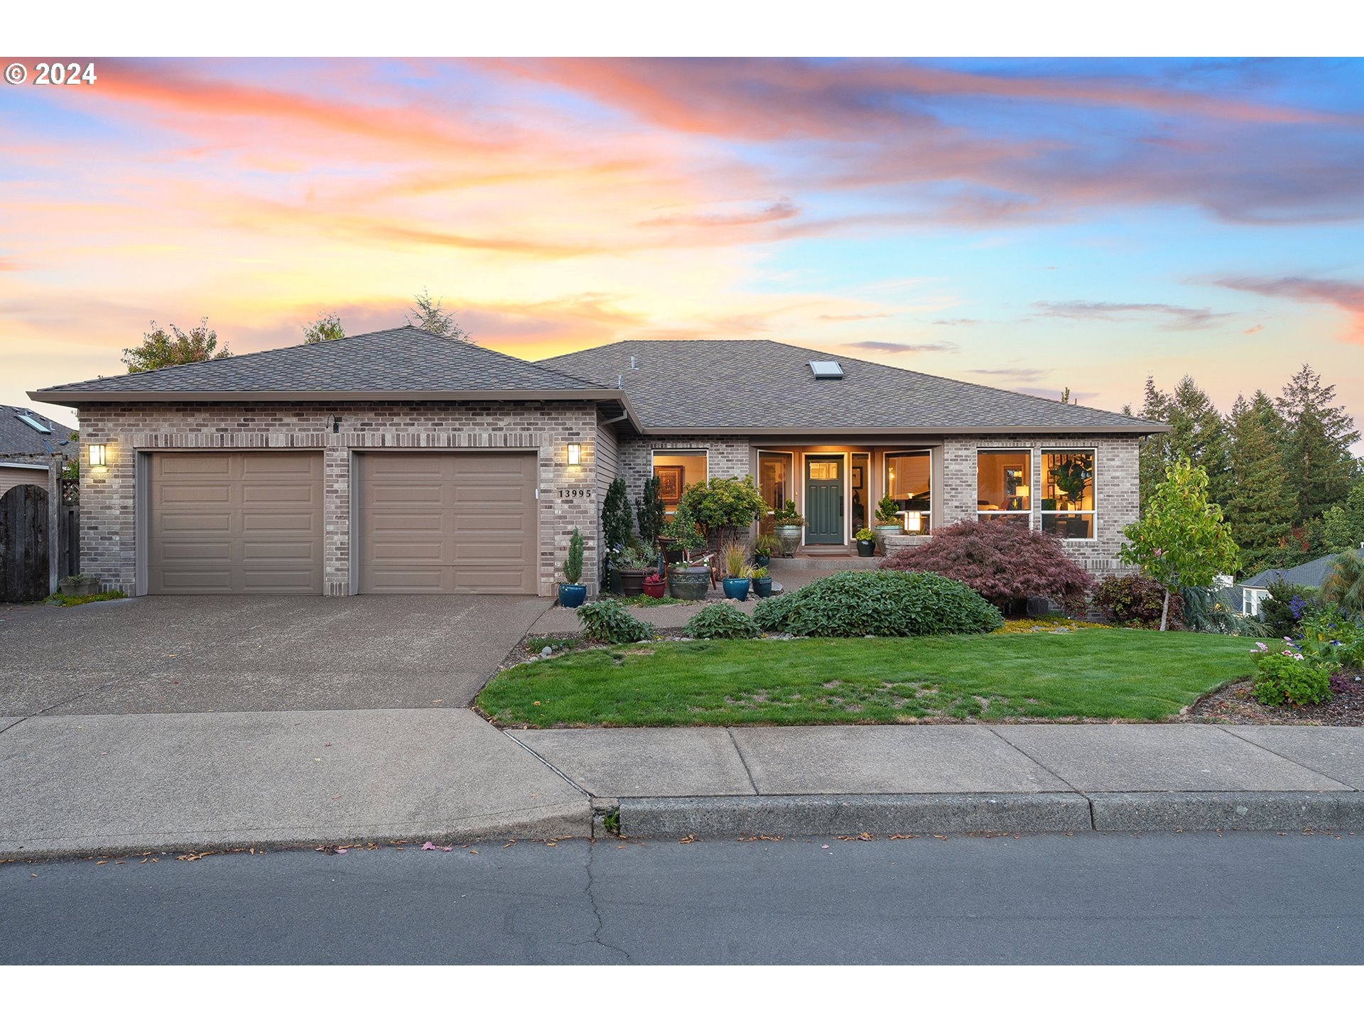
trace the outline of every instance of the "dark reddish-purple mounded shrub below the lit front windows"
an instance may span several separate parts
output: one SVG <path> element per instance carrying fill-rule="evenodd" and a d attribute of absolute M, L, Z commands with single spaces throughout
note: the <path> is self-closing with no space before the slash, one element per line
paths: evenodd
<path fill-rule="evenodd" d="M 1045 596 L 1072 614 L 1084 608 L 1094 588 L 1094 577 L 1054 536 L 1004 521 L 964 521 L 936 529 L 926 544 L 891 555 L 881 567 L 934 572 L 1000 606 Z"/>

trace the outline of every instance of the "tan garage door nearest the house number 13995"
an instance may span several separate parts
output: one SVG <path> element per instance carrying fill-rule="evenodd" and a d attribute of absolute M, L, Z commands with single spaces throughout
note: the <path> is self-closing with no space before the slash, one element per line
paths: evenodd
<path fill-rule="evenodd" d="M 535 593 L 535 454 L 361 454 L 361 593 Z"/>

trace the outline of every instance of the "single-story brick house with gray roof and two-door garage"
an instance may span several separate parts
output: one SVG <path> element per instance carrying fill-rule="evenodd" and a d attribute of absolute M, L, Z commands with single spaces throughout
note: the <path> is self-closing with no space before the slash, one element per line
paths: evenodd
<path fill-rule="evenodd" d="M 80 409 L 83 567 L 134 593 L 552 595 L 574 527 L 597 578 L 607 486 L 652 473 L 674 506 L 752 473 L 810 547 L 889 494 L 921 535 L 1008 517 L 1113 572 L 1166 430 L 772 341 L 528 363 L 415 327 L 33 397 Z"/>

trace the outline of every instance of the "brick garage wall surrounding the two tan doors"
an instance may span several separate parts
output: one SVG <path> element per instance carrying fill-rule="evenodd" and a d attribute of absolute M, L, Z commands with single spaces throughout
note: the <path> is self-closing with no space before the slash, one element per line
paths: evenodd
<path fill-rule="evenodd" d="M 340 432 L 331 432 L 334 416 Z M 135 592 L 136 453 L 312 449 L 323 458 L 323 587 L 351 592 L 351 453 L 372 449 L 513 449 L 539 458 L 539 592 L 552 596 L 569 535 L 584 539 L 582 581 L 597 578 L 597 411 L 588 402 L 95 404 L 80 408 L 82 569 L 105 589 Z M 582 445 L 569 466 L 566 445 Z M 108 445 L 108 469 L 91 471 L 89 445 Z"/>

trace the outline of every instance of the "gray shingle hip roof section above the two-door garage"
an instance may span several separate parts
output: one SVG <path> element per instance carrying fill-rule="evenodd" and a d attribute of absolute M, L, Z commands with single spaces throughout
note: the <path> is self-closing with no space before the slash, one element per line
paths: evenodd
<path fill-rule="evenodd" d="M 61 402 L 74 394 L 86 401 L 120 396 L 232 393 L 250 396 L 296 391 L 527 391 L 600 390 L 589 381 L 548 366 L 528 363 L 466 341 L 451 341 L 416 327 L 376 330 L 312 345 L 276 348 L 206 363 L 101 376 L 34 391 Z"/>

